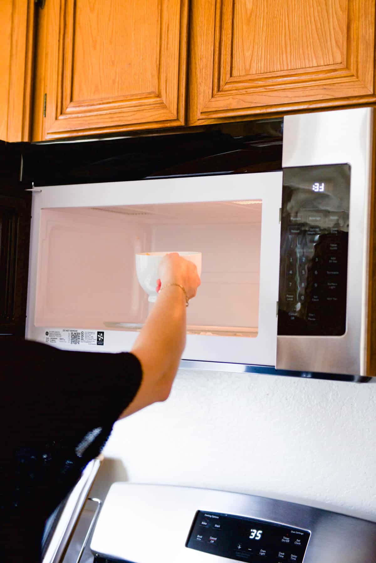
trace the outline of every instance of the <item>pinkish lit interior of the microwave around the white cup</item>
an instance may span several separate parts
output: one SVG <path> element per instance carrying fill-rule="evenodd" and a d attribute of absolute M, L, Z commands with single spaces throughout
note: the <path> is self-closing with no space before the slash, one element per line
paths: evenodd
<path fill-rule="evenodd" d="M 41 210 L 36 326 L 139 330 L 153 303 L 135 255 L 201 252 L 188 334 L 258 334 L 262 201 Z"/>

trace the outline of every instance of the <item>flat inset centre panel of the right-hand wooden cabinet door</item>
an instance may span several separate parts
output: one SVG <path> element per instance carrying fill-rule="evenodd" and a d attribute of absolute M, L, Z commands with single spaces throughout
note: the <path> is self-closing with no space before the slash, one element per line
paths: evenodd
<path fill-rule="evenodd" d="M 347 0 L 234 2 L 233 76 L 340 64 Z M 272 24 L 272 25 L 271 25 Z"/>

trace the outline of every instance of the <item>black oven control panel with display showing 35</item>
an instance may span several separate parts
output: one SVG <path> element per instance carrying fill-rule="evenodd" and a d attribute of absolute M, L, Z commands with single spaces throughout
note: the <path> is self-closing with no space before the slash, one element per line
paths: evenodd
<path fill-rule="evenodd" d="M 248 563 L 303 563 L 310 535 L 273 522 L 198 511 L 185 545 Z"/>

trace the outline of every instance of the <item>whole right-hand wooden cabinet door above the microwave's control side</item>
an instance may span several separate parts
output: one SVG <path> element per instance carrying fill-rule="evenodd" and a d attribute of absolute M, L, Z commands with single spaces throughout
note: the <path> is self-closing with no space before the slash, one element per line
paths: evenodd
<path fill-rule="evenodd" d="M 192 0 L 189 124 L 376 100 L 375 0 Z"/>

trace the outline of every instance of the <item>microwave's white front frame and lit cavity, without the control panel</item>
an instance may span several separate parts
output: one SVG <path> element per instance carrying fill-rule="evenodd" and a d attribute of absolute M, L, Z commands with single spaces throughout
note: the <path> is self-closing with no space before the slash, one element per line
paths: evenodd
<path fill-rule="evenodd" d="M 153 306 L 135 254 L 201 252 L 183 363 L 275 366 L 281 198 L 282 172 L 42 187 L 26 337 L 130 350 Z"/>

